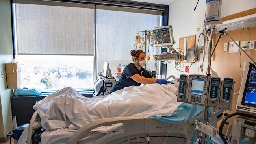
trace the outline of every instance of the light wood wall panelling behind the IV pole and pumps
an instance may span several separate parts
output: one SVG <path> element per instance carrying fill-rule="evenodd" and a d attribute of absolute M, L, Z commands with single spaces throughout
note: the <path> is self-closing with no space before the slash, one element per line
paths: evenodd
<path fill-rule="evenodd" d="M 229 35 L 235 41 L 249 41 L 256 40 L 256 27 L 253 28 L 244 28 L 242 30 L 235 31 L 227 31 Z M 213 44 L 217 41 L 219 34 L 215 34 L 213 39 Z M 241 53 L 241 68 L 243 70 L 243 62 L 249 61 L 243 52 L 239 50 L 239 53 L 229 53 L 229 51 L 223 51 L 224 43 L 231 42 L 228 37 L 223 35 L 219 41 L 219 44 L 216 47 L 215 53 L 212 57 L 211 66 L 212 68 L 219 74 L 219 76 L 223 79 L 224 77 L 232 77 L 234 81 L 236 81 L 234 93 L 239 92 L 242 74 L 240 70 L 240 60 L 239 56 Z M 247 50 L 247 54 L 249 54 L 253 59 L 256 59 L 256 50 Z M 236 112 L 236 102 L 237 102 L 238 94 L 234 94 L 232 111 L 225 111 L 225 113 L 234 113 Z M 234 122 L 236 117 L 230 118 L 228 122 Z M 218 122 L 218 127 L 221 122 Z M 226 131 L 226 126 L 223 131 Z"/>

